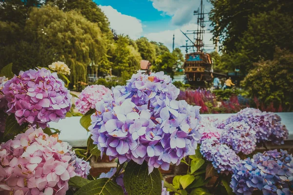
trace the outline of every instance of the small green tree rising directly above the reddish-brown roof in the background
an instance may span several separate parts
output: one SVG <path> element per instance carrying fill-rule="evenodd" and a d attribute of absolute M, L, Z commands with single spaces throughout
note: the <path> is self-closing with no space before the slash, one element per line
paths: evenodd
<path fill-rule="evenodd" d="M 153 64 L 156 59 L 155 45 L 150 43 L 145 37 L 141 37 L 135 42 L 142 59 L 148 60 Z"/>

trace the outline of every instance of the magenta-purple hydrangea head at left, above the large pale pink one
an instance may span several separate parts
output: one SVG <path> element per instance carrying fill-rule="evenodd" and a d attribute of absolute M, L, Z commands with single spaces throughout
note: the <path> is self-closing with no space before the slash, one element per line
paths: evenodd
<path fill-rule="evenodd" d="M 4 84 L 2 93 L 8 101 L 7 113 L 14 113 L 20 124 L 45 128 L 46 123 L 65 118 L 71 107 L 72 96 L 64 82 L 45 68 L 21 71 Z"/>

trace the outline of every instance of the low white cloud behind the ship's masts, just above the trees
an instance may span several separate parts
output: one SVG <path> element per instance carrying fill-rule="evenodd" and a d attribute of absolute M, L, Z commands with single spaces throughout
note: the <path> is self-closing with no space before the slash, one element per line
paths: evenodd
<path fill-rule="evenodd" d="M 172 51 L 172 44 L 173 44 L 173 34 L 175 35 L 175 41 L 174 41 L 174 46 L 179 47 L 183 54 L 185 54 L 185 48 L 184 47 L 180 47 L 182 45 L 186 44 L 186 40 L 187 38 L 183 35 L 182 32 L 180 32 L 180 30 L 182 30 L 183 32 L 186 32 L 187 30 L 196 30 L 197 29 L 197 24 L 186 24 L 183 25 L 182 27 L 175 29 L 175 30 L 166 30 L 166 31 L 161 31 L 161 32 L 157 32 L 157 33 L 149 33 L 146 34 L 145 37 L 149 40 L 153 40 L 156 42 L 162 42 L 164 43 L 170 51 Z M 189 39 L 191 39 L 193 41 L 193 35 L 188 35 Z M 212 35 L 209 34 L 205 34 L 204 35 L 204 44 L 205 45 L 210 45 L 212 44 L 212 40 L 210 40 L 212 38 Z M 192 43 L 190 41 L 188 41 L 188 45 L 191 45 Z M 194 48 L 196 51 L 196 48 Z M 213 47 L 205 47 L 205 49 L 213 49 Z M 191 52 L 190 50 L 188 52 Z M 209 51 L 207 51 L 209 52 Z"/>

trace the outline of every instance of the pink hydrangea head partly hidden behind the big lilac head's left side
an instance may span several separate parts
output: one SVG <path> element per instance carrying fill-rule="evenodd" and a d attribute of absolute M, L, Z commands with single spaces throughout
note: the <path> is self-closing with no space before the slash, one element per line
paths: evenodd
<path fill-rule="evenodd" d="M 87 86 L 79 95 L 79 98 L 76 98 L 75 106 L 84 115 L 90 109 L 94 109 L 96 103 L 102 100 L 102 97 L 106 94 L 110 95 L 112 92 L 104 85 Z"/>

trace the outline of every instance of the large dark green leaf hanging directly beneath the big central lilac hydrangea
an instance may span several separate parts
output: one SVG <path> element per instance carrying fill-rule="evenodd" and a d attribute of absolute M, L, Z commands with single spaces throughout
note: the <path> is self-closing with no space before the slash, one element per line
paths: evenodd
<path fill-rule="evenodd" d="M 162 179 L 158 169 L 148 174 L 147 162 L 142 165 L 134 161 L 128 162 L 123 177 L 128 195 L 160 195 Z"/>

